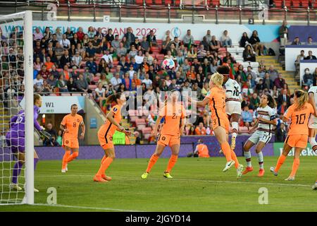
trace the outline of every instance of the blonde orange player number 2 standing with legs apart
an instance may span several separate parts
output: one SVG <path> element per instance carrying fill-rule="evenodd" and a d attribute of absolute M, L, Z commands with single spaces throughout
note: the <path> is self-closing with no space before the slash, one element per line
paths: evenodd
<path fill-rule="evenodd" d="M 169 145 L 172 150 L 172 155 L 168 161 L 168 166 L 163 174 L 163 177 L 172 179 L 170 171 L 173 169 L 175 163 L 178 160 L 178 153 L 180 152 L 180 136 L 184 132 L 185 128 L 185 108 L 178 102 L 178 91 L 171 90 L 171 94 L 165 102 L 164 107 L 160 109 L 159 117 L 156 119 L 154 127 L 154 136 L 157 136 L 159 124 L 164 117 L 164 123 L 157 138 L 157 145 L 155 153 L 149 160 L 147 171 L 142 174 L 142 179 L 147 179 L 151 168 L 155 165 L 163 153 L 164 148 Z"/>

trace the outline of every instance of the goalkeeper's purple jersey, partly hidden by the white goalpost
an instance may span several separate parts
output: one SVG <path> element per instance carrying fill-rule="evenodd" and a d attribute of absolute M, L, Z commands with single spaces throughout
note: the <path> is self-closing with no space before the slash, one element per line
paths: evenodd
<path fill-rule="evenodd" d="M 39 126 L 37 117 L 39 116 L 39 107 L 34 106 L 34 126 L 38 131 L 42 131 L 42 127 Z M 25 137 L 25 111 L 20 110 L 18 115 L 15 115 L 10 120 L 10 131 L 11 137 Z"/>

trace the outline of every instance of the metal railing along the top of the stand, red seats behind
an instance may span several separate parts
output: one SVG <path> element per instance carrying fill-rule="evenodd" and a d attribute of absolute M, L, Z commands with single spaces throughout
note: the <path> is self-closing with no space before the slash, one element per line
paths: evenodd
<path fill-rule="evenodd" d="M 307 8 L 266 8 L 261 6 L 251 7 L 247 5 L 236 6 L 227 4 L 226 6 L 207 4 L 209 1 L 201 1 L 201 4 L 137 4 L 135 0 L 90 0 L 90 1 L 11 1 L 0 2 L 0 14 L 25 11 L 32 9 L 37 14 L 37 20 L 46 20 L 46 14 L 52 13 L 49 8 L 54 4 L 56 18 L 58 20 L 90 20 L 102 21 L 104 15 L 111 16 L 112 21 L 128 22 L 131 19 L 147 23 L 149 20 L 157 22 L 173 23 L 181 22 L 183 16 L 191 16 L 192 23 L 249 23 L 253 18 L 256 23 L 280 23 L 280 20 L 290 20 L 294 23 L 317 24 L 317 9 L 311 4 Z M 224 0 L 223 0 L 224 2 Z M 87 3 L 87 4 L 86 4 Z M 165 3 L 165 1 L 164 1 Z M 224 2 L 224 3 L 227 3 Z M 9 10 L 11 9 L 11 11 Z M 9 12 L 10 11 L 10 12 Z M 199 20 L 198 18 L 203 18 Z M 125 21 L 124 21 L 125 20 Z M 299 21 L 299 22 L 298 22 Z"/>

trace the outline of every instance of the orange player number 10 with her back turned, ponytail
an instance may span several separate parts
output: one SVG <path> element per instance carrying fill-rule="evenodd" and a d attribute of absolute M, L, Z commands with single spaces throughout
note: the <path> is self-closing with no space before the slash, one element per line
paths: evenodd
<path fill-rule="evenodd" d="M 299 155 L 302 153 L 302 150 L 306 148 L 308 141 L 309 117 L 311 114 L 317 117 L 316 108 L 308 102 L 308 99 L 308 93 L 303 90 L 296 90 L 294 93 L 294 104 L 287 109 L 282 119 L 283 121 L 291 121 L 290 131 L 288 131 L 282 155 L 278 158 L 276 166 L 271 167 L 271 172 L 273 172 L 275 176 L 278 176 L 278 170 L 285 161 L 288 153 L 290 153 L 292 148 L 295 148 L 292 172 L 285 181 L 294 181 L 295 174 L 299 167 Z"/>

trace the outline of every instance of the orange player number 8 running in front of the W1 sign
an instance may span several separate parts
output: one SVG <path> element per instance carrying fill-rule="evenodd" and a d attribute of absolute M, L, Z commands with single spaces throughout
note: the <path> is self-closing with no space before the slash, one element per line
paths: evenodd
<path fill-rule="evenodd" d="M 70 107 L 71 113 L 63 117 L 61 121 L 61 130 L 63 130 L 63 143 L 62 146 L 65 149 L 65 154 L 63 156 L 63 163 L 61 172 L 65 173 L 68 171 L 68 162 L 75 160 L 79 155 L 79 143 L 78 143 L 78 129 L 81 127 L 82 133 L 80 133 L 80 139 L 85 137 L 85 124 L 82 117 L 77 114 L 77 105 L 72 105 Z M 70 155 L 70 153 L 73 154 Z"/>

